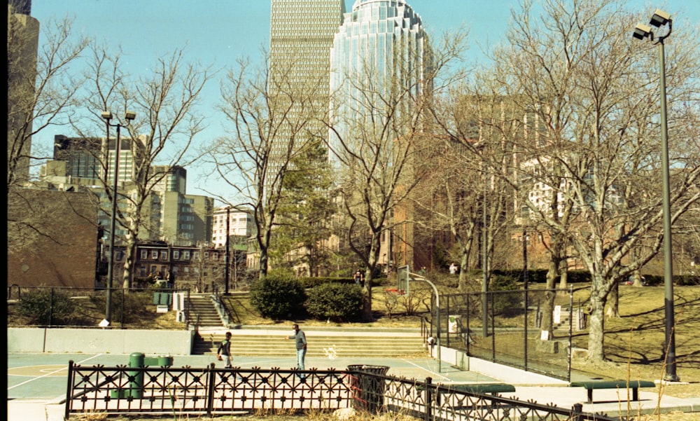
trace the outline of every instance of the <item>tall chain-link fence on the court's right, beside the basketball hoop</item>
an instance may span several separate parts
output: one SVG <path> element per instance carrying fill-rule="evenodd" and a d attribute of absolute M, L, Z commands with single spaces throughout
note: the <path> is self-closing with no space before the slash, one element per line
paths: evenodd
<path fill-rule="evenodd" d="M 584 312 L 573 303 L 573 289 L 440 295 L 440 315 L 443 346 L 567 381 L 572 332 L 585 327 Z M 549 315 L 551 330 L 543 325 Z"/>

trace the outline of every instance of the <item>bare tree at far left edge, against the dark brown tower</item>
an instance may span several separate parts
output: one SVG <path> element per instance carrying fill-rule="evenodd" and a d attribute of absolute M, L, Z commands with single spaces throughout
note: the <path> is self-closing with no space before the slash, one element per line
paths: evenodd
<path fill-rule="evenodd" d="M 87 39 L 71 39 L 72 21 L 46 22 L 45 42 L 38 45 L 38 22 L 18 13 L 8 3 L 7 30 L 7 195 L 8 205 L 23 206 L 22 187 L 30 182 L 31 137 L 50 125 L 65 124 L 83 79 L 71 74 L 71 66 L 83 53 Z M 34 147 L 34 151 L 37 148 Z M 48 212 L 49 209 L 46 209 Z M 27 247 L 38 237 L 51 237 L 36 212 L 20 212 L 8 219 L 8 253 Z"/>

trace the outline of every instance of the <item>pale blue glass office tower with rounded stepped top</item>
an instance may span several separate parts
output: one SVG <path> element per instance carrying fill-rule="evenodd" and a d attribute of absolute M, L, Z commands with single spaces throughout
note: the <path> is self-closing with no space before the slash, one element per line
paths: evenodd
<path fill-rule="evenodd" d="M 330 52 L 330 113 L 339 135 L 347 142 L 362 137 L 351 130 L 366 131 L 389 115 L 395 123 L 409 116 L 411 102 L 429 90 L 427 57 L 421 18 L 405 1 L 356 0 Z M 393 126 L 391 137 L 401 137 L 403 125 Z M 332 131 L 329 142 L 339 150 Z"/>

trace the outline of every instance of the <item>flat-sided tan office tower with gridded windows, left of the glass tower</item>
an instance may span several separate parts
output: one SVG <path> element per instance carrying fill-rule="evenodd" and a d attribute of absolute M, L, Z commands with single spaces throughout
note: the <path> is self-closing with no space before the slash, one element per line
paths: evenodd
<path fill-rule="evenodd" d="M 283 129 L 285 132 L 280 142 L 274 146 L 279 153 L 286 150 L 286 140 L 292 137 L 325 139 L 327 130 L 321 121 L 328 114 L 330 47 L 344 13 L 344 0 L 272 0 L 269 25 L 271 93 L 297 92 L 298 98 L 300 94 L 314 92 L 311 108 L 308 104 L 303 109 L 302 106 L 293 106 L 288 121 L 316 120 L 304 125 L 305 134 L 293 133 L 293 127 Z M 309 109 L 315 112 L 309 115 Z"/>

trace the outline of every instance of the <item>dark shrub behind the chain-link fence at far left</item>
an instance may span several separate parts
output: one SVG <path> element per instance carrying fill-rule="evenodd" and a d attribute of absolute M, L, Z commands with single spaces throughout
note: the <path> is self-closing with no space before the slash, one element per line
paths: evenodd
<path fill-rule="evenodd" d="M 71 296 L 52 289 L 22 294 L 17 302 L 18 314 L 31 324 L 66 324 L 75 309 Z"/>

